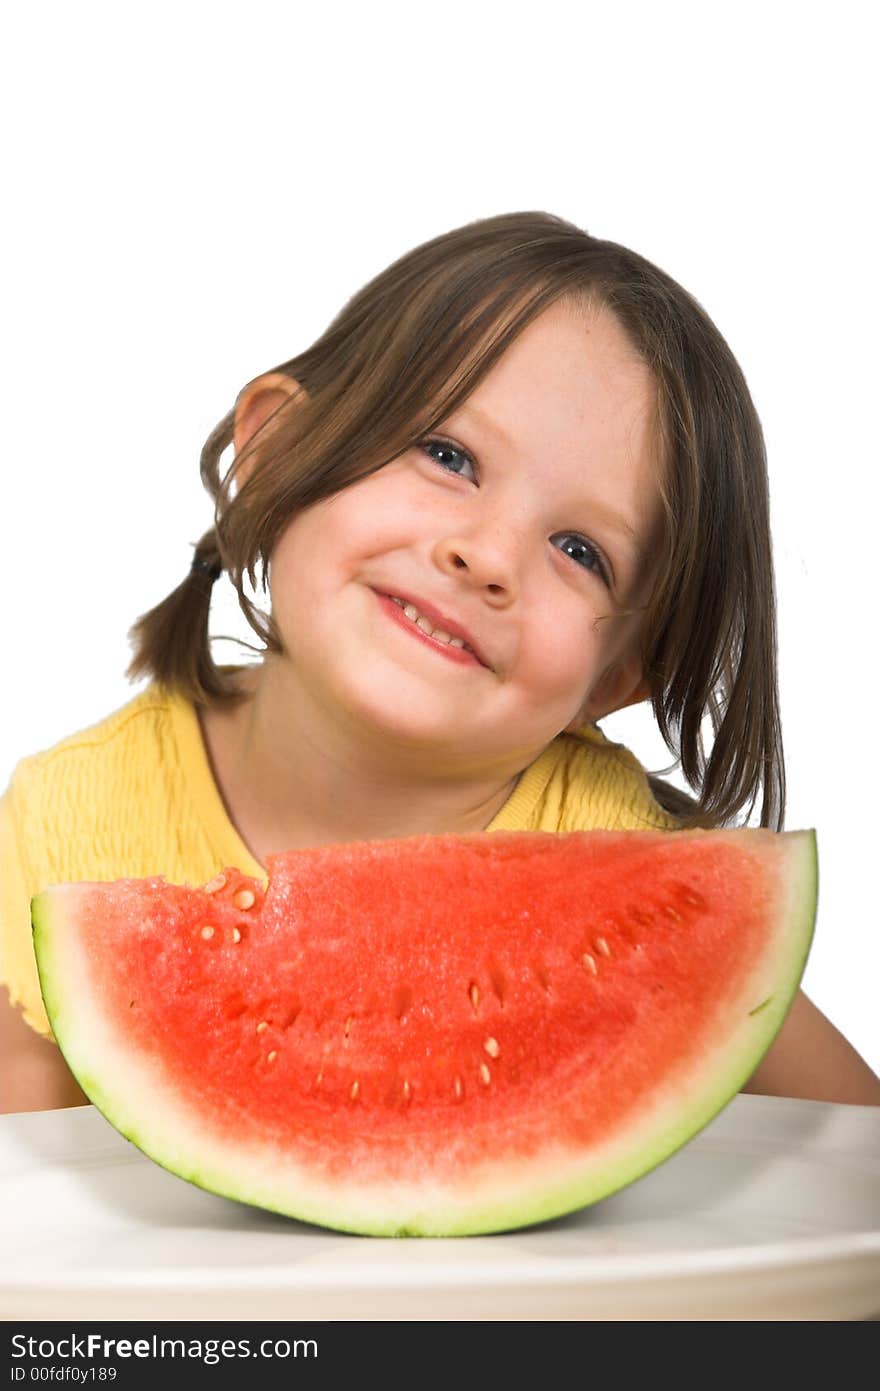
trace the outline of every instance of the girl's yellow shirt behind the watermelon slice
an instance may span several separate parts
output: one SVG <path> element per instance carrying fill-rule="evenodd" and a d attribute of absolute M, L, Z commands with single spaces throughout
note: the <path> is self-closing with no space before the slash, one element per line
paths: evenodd
<path fill-rule="evenodd" d="M 671 829 L 638 761 L 594 726 L 559 734 L 487 830 Z M 229 821 L 195 707 L 149 686 L 97 725 L 24 758 L 0 800 L 0 982 L 51 1038 L 31 939 L 50 883 L 206 883 L 235 865 L 267 882 Z"/>

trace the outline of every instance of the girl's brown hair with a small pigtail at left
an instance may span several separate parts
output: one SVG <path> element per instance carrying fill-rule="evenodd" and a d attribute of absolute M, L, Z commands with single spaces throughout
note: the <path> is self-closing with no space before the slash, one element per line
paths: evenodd
<path fill-rule="evenodd" d="M 243 593 L 267 584 L 286 523 L 412 448 L 470 395 L 516 335 L 560 299 L 603 305 L 658 383 L 665 534 L 645 611 L 642 659 L 660 733 L 698 800 L 651 778 L 683 826 L 747 817 L 783 825 L 785 778 L 776 679 L 776 601 L 760 423 L 742 371 L 702 306 L 651 262 L 548 213 L 470 223 L 407 252 L 360 289 L 327 331 L 275 371 L 303 392 L 242 451 L 260 466 L 231 497 L 231 410 L 202 451 L 214 527 L 196 545 L 222 566 L 242 612 L 279 652 L 271 613 Z M 236 460 L 238 462 L 238 460 Z M 211 580 L 192 570 L 131 630 L 128 676 L 193 701 L 234 701 L 235 668 L 210 652 Z M 713 730 L 710 753 L 702 740 Z"/>

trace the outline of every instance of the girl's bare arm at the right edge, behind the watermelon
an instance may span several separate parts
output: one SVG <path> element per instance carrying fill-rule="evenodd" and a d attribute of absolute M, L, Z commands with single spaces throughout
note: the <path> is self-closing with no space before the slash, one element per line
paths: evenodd
<path fill-rule="evenodd" d="M 880 1078 L 802 990 L 742 1091 L 880 1106 Z"/>

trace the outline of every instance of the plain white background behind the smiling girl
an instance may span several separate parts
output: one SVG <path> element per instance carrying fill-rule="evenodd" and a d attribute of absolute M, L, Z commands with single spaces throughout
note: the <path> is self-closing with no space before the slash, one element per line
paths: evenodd
<path fill-rule="evenodd" d="M 6 21 L 0 786 L 135 694 L 127 629 L 210 524 L 197 455 L 245 381 L 428 236 L 553 211 L 680 280 L 744 367 L 787 825 L 819 832 L 805 989 L 879 1070 L 872 7 L 309 10 Z M 252 636 L 224 588 L 214 632 Z M 662 768 L 648 715 L 605 729 Z"/>

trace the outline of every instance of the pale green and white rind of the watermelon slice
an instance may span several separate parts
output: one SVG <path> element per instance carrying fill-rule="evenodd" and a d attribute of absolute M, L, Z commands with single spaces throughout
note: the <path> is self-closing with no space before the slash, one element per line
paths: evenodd
<path fill-rule="evenodd" d="M 186 1143 L 193 1128 L 186 1107 L 161 1091 L 143 1059 L 122 1056 L 118 1034 L 101 1028 L 99 1010 L 89 1018 L 88 1002 L 83 1007 L 82 996 L 71 989 L 76 961 L 65 953 L 65 944 L 74 935 L 64 931 L 64 894 L 71 893 L 71 886 L 63 892 L 47 889 L 32 900 L 43 1000 L 58 1047 L 86 1096 L 115 1129 L 177 1177 L 236 1202 L 348 1232 L 457 1237 L 519 1230 L 591 1206 L 635 1182 L 702 1131 L 753 1074 L 797 995 L 816 918 L 815 832 L 787 832 L 781 839 L 787 903 L 773 936 L 774 951 L 758 964 L 756 988 L 744 999 L 740 1035 L 724 1038 L 717 1059 L 709 1056 L 701 1066 L 690 1060 L 694 1075 L 673 1075 L 659 1085 L 651 1111 L 601 1150 L 580 1160 L 551 1153 L 546 1174 L 534 1160 L 516 1166 L 488 1163 L 482 1180 L 474 1180 L 466 1193 L 421 1182 L 364 1189 L 357 1187 L 356 1175 L 343 1184 L 323 1184 L 282 1155 L 236 1148 L 228 1138 L 214 1139 L 204 1131 L 193 1155 L 192 1142 Z M 72 1008 L 61 997 L 61 981 L 67 982 Z M 118 1061 L 115 1070 L 110 1059 Z M 683 1095 L 688 1091 L 692 1099 L 685 1104 Z M 150 1095 L 149 1117 L 142 1102 L 132 1102 L 143 1095 Z M 245 1188 L 242 1174 L 249 1175 Z"/>

